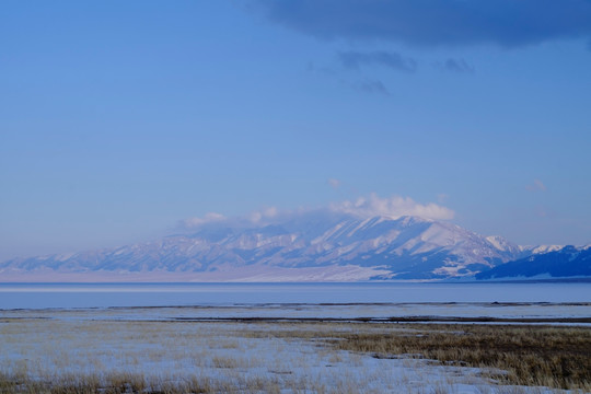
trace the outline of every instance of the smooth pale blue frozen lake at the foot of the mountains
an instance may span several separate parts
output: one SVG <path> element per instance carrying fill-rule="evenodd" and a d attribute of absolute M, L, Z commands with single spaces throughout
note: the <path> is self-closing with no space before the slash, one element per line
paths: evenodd
<path fill-rule="evenodd" d="M 591 283 L 0 283 L 2 310 L 420 302 L 591 302 Z"/>

